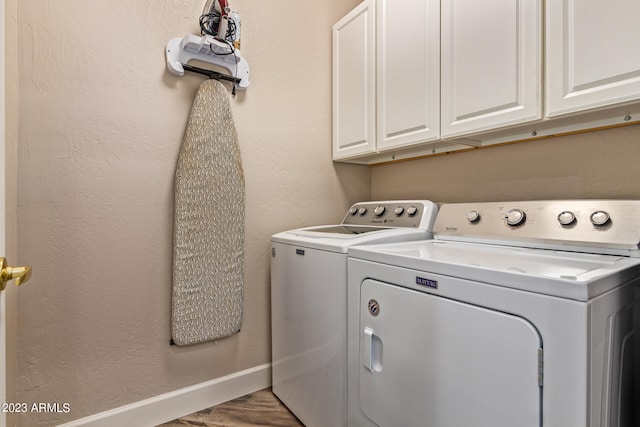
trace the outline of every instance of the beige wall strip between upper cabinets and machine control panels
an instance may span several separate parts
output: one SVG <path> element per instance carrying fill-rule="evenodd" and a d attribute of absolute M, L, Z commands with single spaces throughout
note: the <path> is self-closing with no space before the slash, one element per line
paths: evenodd
<path fill-rule="evenodd" d="M 374 199 L 640 198 L 640 125 L 372 168 Z"/>

